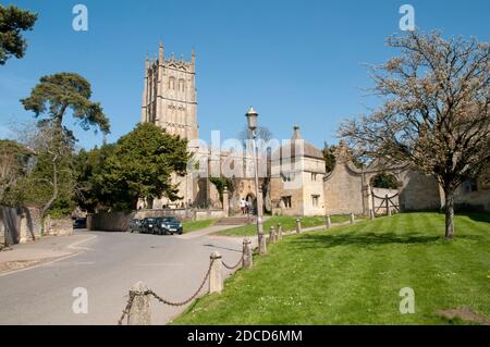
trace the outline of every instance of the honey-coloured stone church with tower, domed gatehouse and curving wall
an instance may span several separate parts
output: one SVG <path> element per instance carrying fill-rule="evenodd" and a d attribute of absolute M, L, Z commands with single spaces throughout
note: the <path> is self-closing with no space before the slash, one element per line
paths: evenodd
<path fill-rule="evenodd" d="M 142 102 L 142 122 L 151 122 L 169 134 L 189 140 L 189 151 L 199 165 L 206 166 L 206 175 L 189 172 L 186 176 L 173 176 L 179 184 L 182 199 L 170 201 L 166 197 L 152 201 L 140 201 L 138 208 L 221 209 L 223 194 L 209 179 L 210 174 L 220 175 L 223 165 L 242 166 L 243 175 L 233 175 L 231 191 L 226 195 L 230 212 L 240 211 L 240 200 L 246 199 L 256 207 L 257 197 L 254 179 L 252 152 L 220 151 L 203 148 L 199 144 L 197 121 L 196 55 L 191 61 L 170 58 L 160 44 L 158 57 L 146 59 L 145 83 Z M 197 145 L 196 145 L 197 144 Z M 385 165 L 375 161 L 367 168 L 356 168 L 341 141 L 335 153 L 336 164 L 332 172 L 326 172 L 321 150 L 302 138 L 299 126 L 294 126 L 291 140 L 282 146 L 260 152 L 258 168 L 265 175 L 259 181 L 266 212 L 283 215 L 323 215 L 351 213 L 368 215 L 370 211 L 382 213 L 390 207 L 394 210 L 440 209 L 443 194 L 433 176 L 417 170 L 399 165 L 389 169 L 397 182 L 393 191 L 376 190 L 372 178 L 387 171 Z M 250 170 L 252 169 L 252 170 Z M 217 171 L 216 171 L 217 170 Z M 465 185 L 458 190 L 456 201 L 471 205 L 477 201 L 490 210 L 490 185 L 474 185 L 465 193 Z M 473 190 L 471 190 L 473 189 Z M 476 191 L 478 190 L 478 193 Z M 473 197 L 476 197 L 475 199 Z M 381 209 L 381 211 L 380 211 Z M 385 211 L 384 211 L 385 212 Z"/>

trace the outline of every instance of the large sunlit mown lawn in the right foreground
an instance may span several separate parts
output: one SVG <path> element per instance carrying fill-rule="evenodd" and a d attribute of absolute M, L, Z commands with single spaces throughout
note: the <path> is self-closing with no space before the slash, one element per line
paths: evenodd
<path fill-rule="evenodd" d="M 458 324 L 439 309 L 490 318 L 490 214 L 406 213 L 289 236 L 205 296 L 175 324 Z M 399 292 L 415 290 L 401 314 Z"/>

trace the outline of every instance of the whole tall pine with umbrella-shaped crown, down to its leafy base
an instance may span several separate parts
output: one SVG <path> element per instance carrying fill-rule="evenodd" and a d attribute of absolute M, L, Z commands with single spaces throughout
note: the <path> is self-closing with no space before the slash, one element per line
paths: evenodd
<path fill-rule="evenodd" d="M 54 208 L 57 211 L 70 212 L 74 195 L 75 172 L 73 166 L 73 133 L 63 126 L 63 117 L 69 110 L 79 121 L 83 129 L 96 127 L 105 134 L 109 133 L 109 120 L 102 112 L 99 102 L 90 101 L 90 84 L 78 74 L 58 73 L 40 78 L 30 96 L 21 102 L 35 117 L 47 117 L 38 122 L 39 136 L 36 146 L 39 148 L 36 171 L 30 181 L 26 181 L 25 189 L 29 191 L 26 200 L 40 203 L 42 214 Z M 37 185 L 36 182 L 45 182 Z M 60 185 L 63 183 L 63 185 Z M 70 188 L 68 188 L 70 187 Z M 76 188 L 76 186 L 75 186 Z M 71 189 L 69 191 L 68 189 Z"/>

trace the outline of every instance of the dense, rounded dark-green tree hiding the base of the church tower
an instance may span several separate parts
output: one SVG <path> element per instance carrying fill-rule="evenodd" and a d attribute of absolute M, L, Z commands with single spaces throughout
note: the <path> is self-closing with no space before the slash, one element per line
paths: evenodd
<path fill-rule="evenodd" d="M 179 188 L 171 177 L 185 174 L 189 158 L 186 139 L 152 123 L 138 123 L 119 139 L 94 181 L 113 209 L 134 209 L 139 198 L 176 200 Z"/>

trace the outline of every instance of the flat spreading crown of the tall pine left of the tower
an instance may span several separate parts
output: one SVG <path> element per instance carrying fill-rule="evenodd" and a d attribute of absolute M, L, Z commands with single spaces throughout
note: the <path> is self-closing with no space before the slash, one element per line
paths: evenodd
<path fill-rule="evenodd" d="M 84 131 L 90 127 L 100 128 L 107 134 L 110 131 L 109 120 L 103 114 L 99 102 L 90 101 L 91 88 L 88 80 L 75 73 L 58 73 L 42 76 L 30 96 L 22 99 L 24 108 L 33 111 L 36 117 L 47 113 L 48 121 L 62 127 L 68 110 L 79 120 Z"/>

